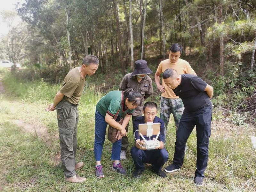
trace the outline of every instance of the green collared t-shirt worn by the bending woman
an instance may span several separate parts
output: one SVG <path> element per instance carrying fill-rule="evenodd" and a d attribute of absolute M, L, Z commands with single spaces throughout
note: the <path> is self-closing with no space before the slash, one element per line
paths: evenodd
<path fill-rule="evenodd" d="M 126 113 L 132 115 L 133 110 L 126 108 L 124 102 L 121 106 L 122 98 L 124 97 L 122 91 L 108 92 L 96 105 L 96 110 L 100 112 L 102 116 L 108 115 L 114 117 L 119 110 L 118 116 L 124 116 Z M 121 107 L 121 108 L 120 108 Z"/>

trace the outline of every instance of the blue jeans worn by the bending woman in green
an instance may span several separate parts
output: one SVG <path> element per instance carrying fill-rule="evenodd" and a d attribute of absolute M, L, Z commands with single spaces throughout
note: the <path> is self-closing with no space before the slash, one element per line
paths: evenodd
<path fill-rule="evenodd" d="M 106 129 L 108 123 L 105 121 L 105 117 L 100 114 L 99 111 L 95 112 L 95 140 L 94 140 L 94 155 L 96 161 L 100 161 L 103 149 L 103 143 L 105 141 Z M 120 160 L 122 139 L 117 140 L 112 145 L 111 160 Z"/>

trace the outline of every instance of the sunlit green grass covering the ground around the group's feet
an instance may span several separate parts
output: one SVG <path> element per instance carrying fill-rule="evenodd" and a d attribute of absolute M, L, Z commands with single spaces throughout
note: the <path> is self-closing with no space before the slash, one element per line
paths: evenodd
<path fill-rule="evenodd" d="M 104 143 L 102 164 L 104 178 L 97 179 L 94 173 L 94 152 L 90 150 L 94 143 L 94 113 L 98 100 L 103 93 L 95 91 L 89 84 L 79 105 L 77 161 L 85 163 L 78 174 L 86 181 L 73 184 L 64 181 L 61 164 L 53 161 L 60 151 L 59 140 L 46 144 L 39 137 L 17 127 L 15 120 L 47 127 L 49 134 L 58 134 L 56 112 L 46 112 L 44 108 L 52 102 L 60 85 L 49 85 L 44 81 L 22 82 L 12 76 L 4 78 L 6 92 L 0 94 L 0 187 L 5 191 L 255 191 L 256 155 L 252 149 L 250 132 L 231 136 L 211 137 L 209 161 L 205 171 L 204 187 L 193 184 L 196 169 L 196 132 L 188 139 L 182 169 L 160 178 L 146 166 L 140 179 L 132 178 L 134 165 L 128 152 L 122 161 L 127 175 L 118 175 L 111 170 L 111 143 Z M 97 89 L 99 90 L 99 89 Z M 221 123 L 221 122 L 220 122 Z M 133 143 L 130 124 L 129 148 Z M 170 121 L 166 149 L 172 163 L 175 129 Z"/>

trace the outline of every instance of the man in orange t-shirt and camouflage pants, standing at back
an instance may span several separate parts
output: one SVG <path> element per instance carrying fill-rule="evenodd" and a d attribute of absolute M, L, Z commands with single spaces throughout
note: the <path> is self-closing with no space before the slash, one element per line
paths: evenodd
<path fill-rule="evenodd" d="M 162 92 L 160 101 L 160 118 L 164 120 L 164 135 L 166 140 L 167 125 L 169 123 L 170 115 L 172 113 L 176 134 L 180 124 L 180 117 L 184 111 L 184 105 L 182 100 L 175 95 L 171 88 L 169 88 L 163 81 L 163 85 L 160 85 L 160 74 L 168 68 L 175 69 L 179 75 L 193 74 L 195 71 L 191 68 L 189 63 L 183 59 L 180 59 L 182 53 L 182 46 L 178 43 L 172 44 L 170 47 L 169 59 L 163 60 L 158 65 L 155 73 L 156 86 L 159 91 Z"/>

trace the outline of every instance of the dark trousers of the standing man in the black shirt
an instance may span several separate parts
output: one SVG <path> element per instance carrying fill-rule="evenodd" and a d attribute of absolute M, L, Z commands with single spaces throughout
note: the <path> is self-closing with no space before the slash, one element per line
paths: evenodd
<path fill-rule="evenodd" d="M 212 106 L 206 106 L 195 112 L 188 112 L 185 108 L 180 118 L 173 156 L 173 164 L 175 164 L 177 168 L 180 168 L 184 162 L 186 142 L 196 125 L 197 160 L 195 176 L 204 177 L 204 171 L 208 162 L 211 122 Z"/>

